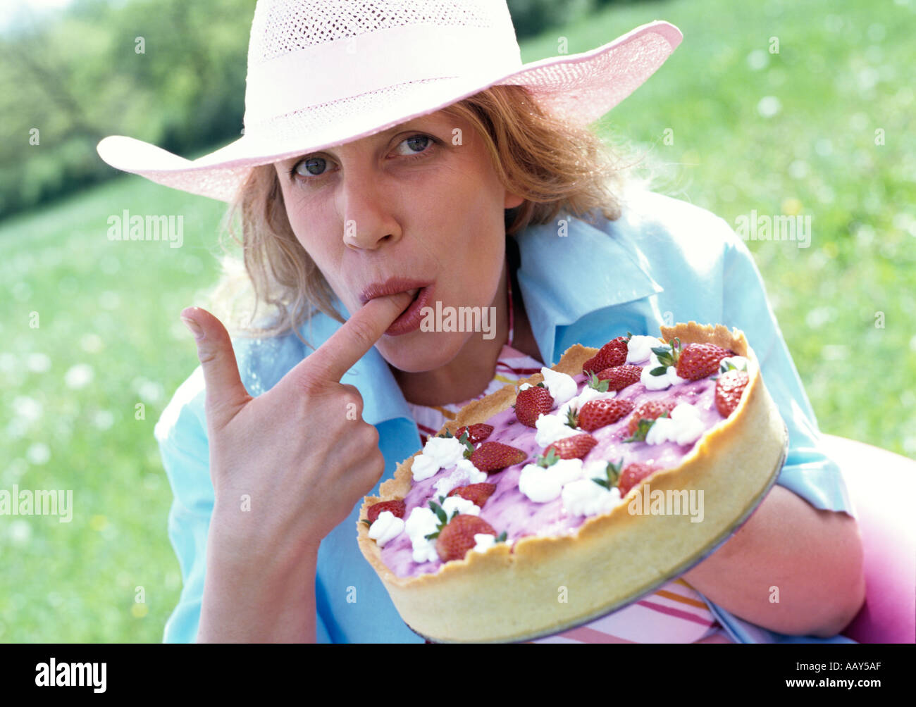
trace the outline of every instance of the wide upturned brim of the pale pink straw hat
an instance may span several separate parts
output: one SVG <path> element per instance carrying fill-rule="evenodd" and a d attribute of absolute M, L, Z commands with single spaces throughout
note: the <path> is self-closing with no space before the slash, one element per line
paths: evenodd
<path fill-rule="evenodd" d="M 596 49 L 534 61 L 509 74 L 403 83 L 347 99 L 347 110 L 338 115 L 329 104 L 284 116 L 277 129 L 243 135 L 194 160 L 127 136 L 105 137 L 96 149 L 115 169 L 231 201 L 253 167 L 375 135 L 491 86 L 525 86 L 544 110 L 573 125 L 590 125 L 658 71 L 682 38 L 680 29 L 656 20 Z"/>

